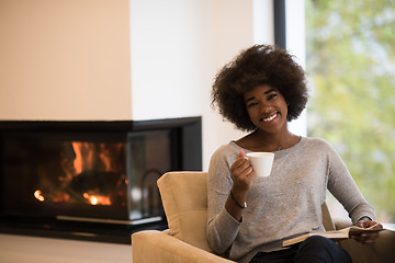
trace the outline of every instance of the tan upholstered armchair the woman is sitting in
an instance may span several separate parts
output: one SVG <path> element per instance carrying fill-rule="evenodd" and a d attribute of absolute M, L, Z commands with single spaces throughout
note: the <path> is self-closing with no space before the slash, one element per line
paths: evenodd
<path fill-rule="evenodd" d="M 158 187 L 168 219 L 165 231 L 146 230 L 132 235 L 134 263 L 145 262 L 233 262 L 212 253 L 205 237 L 207 222 L 207 174 L 204 172 L 169 172 L 158 180 Z M 334 230 L 326 204 L 323 206 L 324 226 Z M 341 227 L 351 225 L 342 221 Z M 394 262 L 395 232 L 382 231 L 375 244 L 354 240 L 340 244 L 354 263 Z"/>

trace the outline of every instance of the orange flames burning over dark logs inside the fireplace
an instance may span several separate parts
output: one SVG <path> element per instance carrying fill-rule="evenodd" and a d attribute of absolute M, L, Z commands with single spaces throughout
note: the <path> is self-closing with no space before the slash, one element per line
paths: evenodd
<path fill-rule="evenodd" d="M 59 181 L 64 188 L 68 185 L 75 187 L 74 190 L 78 195 L 65 193 L 65 197 L 60 196 L 60 198 L 56 197 L 56 201 L 55 198 L 52 198 L 52 201 L 80 202 L 79 198 L 82 197 L 83 202 L 90 205 L 112 205 L 113 195 L 119 195 L 119 190 L 123 186 L 120 185 L 120 182 L 125 183 L 121 181 L 122 175 L 125 173 L 123 170 L 125 144 L 76 140 L 68 141 L 65 149 L 68 150 L 61 157 L 61 168 L 65 175 L 59 178 Z M 117 176 L 121 178 L 117 179 Z M 111 187 L 115 187 L 113 194 L 104 195 L 103 193 L 112 191 Z"/>

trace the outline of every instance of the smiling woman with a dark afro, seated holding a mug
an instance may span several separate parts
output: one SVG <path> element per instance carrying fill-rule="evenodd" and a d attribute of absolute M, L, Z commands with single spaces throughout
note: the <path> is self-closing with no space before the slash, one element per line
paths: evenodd
<path fill-rule="evenodd" d="M 327 188 L 353 224 L 375 225 L 373 207 L 332 147 L 287 129 L 307 103 L 302 67 L 283 49 L 256 45 L 218 72 L 212 96 L 224 118 L 250 132 L 211 159 L 207 241 L 213 251 L 237 262 L 351 262 L 325 238 L 281 247 L 285 239 L 325 230 L 320 207 Z M 251 151 L 274 152 L 270 176 L 256 176 L 245 158 Z M 353 238 L 371 243 L 377 233 Z"/>

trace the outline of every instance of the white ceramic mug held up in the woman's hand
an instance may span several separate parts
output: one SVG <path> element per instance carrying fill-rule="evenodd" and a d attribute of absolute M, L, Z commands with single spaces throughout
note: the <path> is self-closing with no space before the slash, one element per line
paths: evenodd
<path fill-rule="evenodd" d="M 273 152 L 249 152 L 246 155 L 246 158 L 251 163 L 257 176 L 264 178 L 270 175 L 274 160 Z"/>

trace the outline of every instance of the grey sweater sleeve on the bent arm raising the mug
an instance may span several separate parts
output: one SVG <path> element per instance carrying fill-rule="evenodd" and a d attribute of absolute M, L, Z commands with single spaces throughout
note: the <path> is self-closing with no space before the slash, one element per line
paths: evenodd
<path fill-rule="evenodd" d="M 236 155 L 237 157 L 237 155 Z M 225 253 L 235 240 L 241 222 L 232 217 L 225 209 L 225 202 L 233 185 L 229 167 L 233 159 L 217 150 L 210 162 L 207 178 L 207 242 L 218 254 Z"/>

